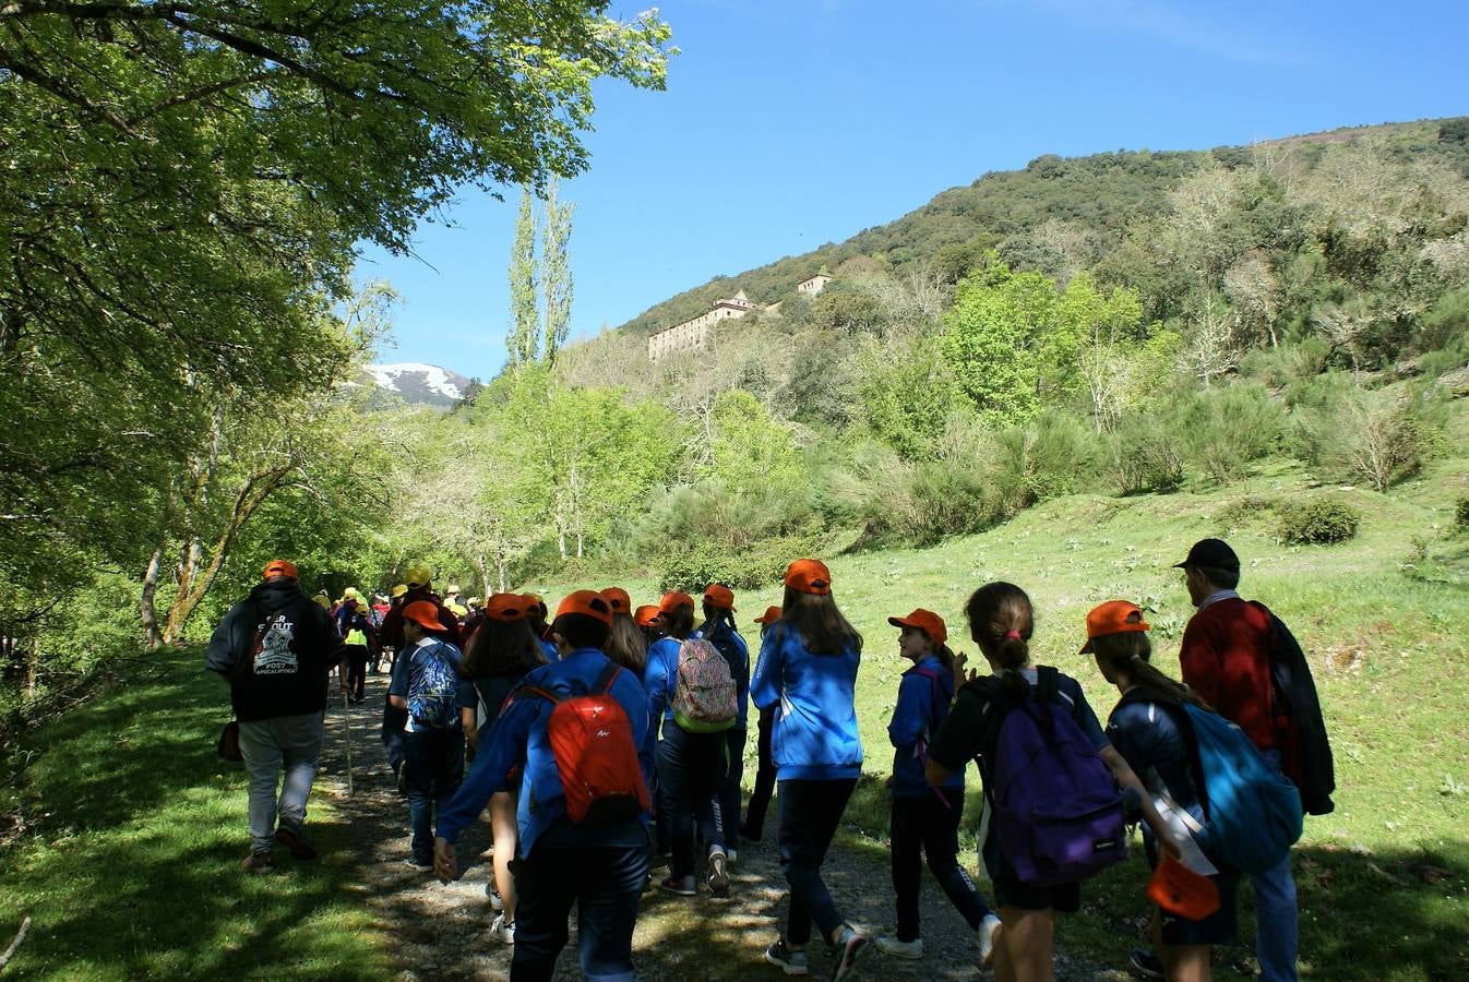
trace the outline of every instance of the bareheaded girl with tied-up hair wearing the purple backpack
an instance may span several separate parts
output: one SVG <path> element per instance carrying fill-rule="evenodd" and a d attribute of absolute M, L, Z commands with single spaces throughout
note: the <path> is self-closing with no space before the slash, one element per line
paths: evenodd
<path fill-rule="evenodd" d="M 971 672 L 928 747 L 927 776 L 930 784 L 943 787 L 970 759 L 980 759 L 986 796 L 980 854 L 995 884 L 1002 922 L 995 944 L 995 975 L 999 982 L 1050 982 L 1055 978 L 1055 912 L 1078 910 L 1080 881 L 1099 862 L 1124 854 L 1122 797 L 1108 775 L 1141 799 L 1143 818 L 1168 844 L 1169 853 L 1175 854 L 1178 847 L 1172 841 L 1174 834 L 1146 800 L 1137 775 L 1108 743 L 1077 680 L 1053 668 L 1037 669 L 1031 662 L 1034 612 L 1025 592 L 1011 583 L 986 584 L 970 597 L 965 615 L 970 637 L 980 646 L 995 675 L 978 678 Z M 1011 746 L 1008 732 L 1012 731 L 1012 716 L 1017 724 L 1027 722 L 1027 718 L 1044 721 L 1055 741 L 1049 749 L 1056 756 L 1044 760 L 1037 754 L 1028 763 L 1011 759 L 1005 750 Z M 1017 743 L 1027 735 L 1021 727 L 1012 732 Z M 1022 747 L 1034 750 L 1033 746 Z M 1049 790 L 1052 796 L 1046 803 L 1052 807 L 1074 806 L 1074 801 L 1055 800 L 1074 791 L 1086 791 L 1089 801 L 1100 796 L 1103 803 L 1096 809 L 1089 804 L 1080 815 L 1072 812 L 1071 818 L 1080 826 L 1052 826 L 1059 835 L 1044 841 L 1036 835 L 1027 840 L 1027 845 L 1019 845 L 1021 837 L 1002 835 L 1000 826 L 1024 828 L 1030 822 L 1034 828 L 1034 813 L 1009 810 L 1011 781 L 1018 785 L 1019 801 L 1044 799 Z M 1080 854 L 1068 851 L 1078 841 L 1083 845 L 1077 850 Z M 1033 851 L 1031 847 L 1040 845 L 1047 847 L 1044 853 Z M 1042 875 L 1040 869 L 1052 869 L 1056 875 Z"/>

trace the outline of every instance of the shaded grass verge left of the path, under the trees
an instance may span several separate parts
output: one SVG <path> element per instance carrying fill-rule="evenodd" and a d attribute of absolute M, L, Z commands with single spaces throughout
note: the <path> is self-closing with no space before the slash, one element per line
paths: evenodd
<path fill-rule="evenodd" d="M 244 772 L 214 756 L 223 684 L 198 652 L 73 710 L 31 741 L 19 794 L 34 823 L 0 851 L 0 945 L 34 919 L 25 978 L 386 978 L 388 939 L 345 892 L 354 862 L 317 781 L 317 863 L 272 876 L 247 851 Z"/>

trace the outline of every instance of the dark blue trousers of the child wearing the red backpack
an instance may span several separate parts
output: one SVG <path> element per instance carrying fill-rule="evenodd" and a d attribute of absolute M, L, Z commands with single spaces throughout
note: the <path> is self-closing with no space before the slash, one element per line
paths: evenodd
<path fill-rule="evenodd" d="M 538 845 L 517 860 L 511 982 L 551 979 L 571 904 L 582 973 L 596 982 L 632 982 L 633 925 L 646 878 L 648 850 L 640 845 Z"/>

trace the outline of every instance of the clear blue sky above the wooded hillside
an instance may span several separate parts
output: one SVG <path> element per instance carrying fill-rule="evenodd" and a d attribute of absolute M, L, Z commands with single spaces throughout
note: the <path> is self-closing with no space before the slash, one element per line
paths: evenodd
<path fill-rule="evenodd" d="M 638 4 L 614 0 L 614 16 Z M 573 336 L 712 276 L 883 225 L 1040 154 L 1191 150 L 1469 113 L 1457 3 L 670 0 L 663 92 L 598 85 L 576 203 Z M 403 295 L 395 349 L 504 363 L 516 189 L 466 189 L 414 257 L 367 248 Z"/>

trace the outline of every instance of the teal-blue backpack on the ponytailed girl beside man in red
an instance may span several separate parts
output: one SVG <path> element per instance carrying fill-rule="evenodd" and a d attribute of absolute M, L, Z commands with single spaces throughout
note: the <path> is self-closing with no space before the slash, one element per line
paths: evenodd
<path fill-rule="evenodd" d="M 1203 776 L 1199 844 L 1246 873 L 1272 869 L 1300 838 L 1300 793 L 1232 722 L 1190 703 L 1184 712 Z"/>

